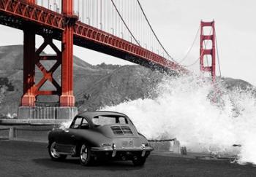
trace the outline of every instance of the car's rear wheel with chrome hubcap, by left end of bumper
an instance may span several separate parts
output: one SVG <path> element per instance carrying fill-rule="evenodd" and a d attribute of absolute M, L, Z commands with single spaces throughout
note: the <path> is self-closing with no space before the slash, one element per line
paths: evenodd
<path fill-rule="evenodd" d="M 79 156 L 80 164 L 84 166 L 91 165 L 91 148 L 90 146 L 86 145 L 86 143 L 83 143 L 80 146 L 80 156 Z"/>

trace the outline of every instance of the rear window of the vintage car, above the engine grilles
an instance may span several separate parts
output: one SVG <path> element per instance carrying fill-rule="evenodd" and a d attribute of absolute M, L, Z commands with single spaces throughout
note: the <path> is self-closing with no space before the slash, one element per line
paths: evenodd
<path fill-rule="evenodd" d="M 128 124 L 126 117 L 120 116 L 97 116 L 92 119 L 94 125 Z"/>

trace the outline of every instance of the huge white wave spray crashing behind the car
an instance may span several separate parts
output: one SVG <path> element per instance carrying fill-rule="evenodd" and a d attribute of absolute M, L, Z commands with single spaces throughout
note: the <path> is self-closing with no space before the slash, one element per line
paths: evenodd
<path fill-rule="evenodd" d="M 156 98 L 103 110 L 127 114 L 147 138 L 177 138 L 191 152 L 236 154 L 240 163 L 256 164 L 255 98 L 241 90 L 219 89 L 219 101 L 212 103 L 211 83 L 181 76 L 163 80 Z M 233 144 L 241 144 L 241 149 Z"/>

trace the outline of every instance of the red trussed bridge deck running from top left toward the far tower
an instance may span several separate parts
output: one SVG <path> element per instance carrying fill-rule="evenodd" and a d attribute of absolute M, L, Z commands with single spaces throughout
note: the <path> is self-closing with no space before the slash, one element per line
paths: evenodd
<path fill-rule="evenodd" d="M 0 24 L 2 25 L 21 30 L 36 28 L 39 35 L 52 35 L 54 39 L 61 40 L 65 20 L 65 15 L 36 4 L 28 4 L 21 0 L 0 0 Z M 148 68 L 189 73 L 186 68 L 154 52 L 79 21 L 74 27 L 74 44 Z"/>

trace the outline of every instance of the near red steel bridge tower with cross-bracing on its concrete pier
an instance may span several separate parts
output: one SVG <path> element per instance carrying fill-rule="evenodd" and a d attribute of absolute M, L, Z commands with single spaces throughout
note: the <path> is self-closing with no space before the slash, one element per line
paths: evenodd
<path fill-rule="evenodd" d="M 26 0 L 34 4 L 35 0 Z M 61 50 L 53 44 L 53 36 L 45 33 L 44 42 L 35 50 L 36 31 L 33 26 L 23 29 L 23 97 L 18 109 L 18 119 L 70 119 L 77 114 L 73 95 L 73 29 L 78 17 L 73 15 L 73 1 L 62 0 L 62 14 L 65 16 L 65 28 L 62 32 Z M 56 55 L 42 55 L 50 45 Z M 40 60 L 56 60 L 47 70 Z M 35 83 L 35 66 L 42 71 L 42 79 Z M 61 85 L 53 78 L 53 73 L 61 66 Z M 55 90 L 40 90 L 45 82 L 51 82 Z M 38 95 L 59 95 L 59 106 L 36 106 Z"/>

